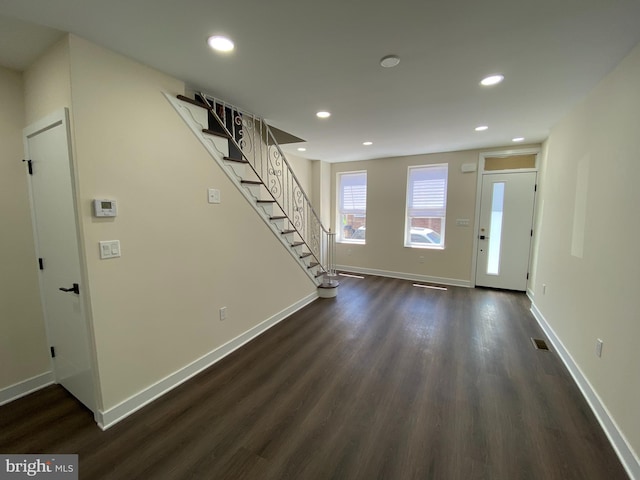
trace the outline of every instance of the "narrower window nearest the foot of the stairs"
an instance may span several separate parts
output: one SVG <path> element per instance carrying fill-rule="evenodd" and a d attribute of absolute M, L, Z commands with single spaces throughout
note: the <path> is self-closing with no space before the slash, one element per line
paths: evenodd
<path fill-rule="evenodd" d="M 338 240 L 365 243 L 367 172 L 338 174 Z"/>

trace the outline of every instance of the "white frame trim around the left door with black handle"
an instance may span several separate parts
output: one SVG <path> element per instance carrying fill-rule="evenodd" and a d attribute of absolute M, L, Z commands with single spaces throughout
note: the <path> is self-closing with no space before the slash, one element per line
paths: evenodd
<path fill-rule="evenodd" d="M 75 163 L 75 157 L 73 154 L 73 141 L 71 136 L 71 121 L 70 121 L 70 113 L 67 107 L 62 107 L 54 112 L 46 115 L 45 117 L 33 122 L 32 124 L 26 126 L 22 130 L 22 141 L 23 141 L 23 149 L 24 154 L 27 158 L 30 156 L 29 153 L 29 139 L 34 137 L 35 135 L 55 128 L 61 125 L 65 129 L 66 133 L 66 143 L 67 150 L 69 156 L 69 175 L 71 178 L 71 195 L 73 198 L 73 214 L 75 218 L 76 224 L 76 240 L 78 245 L 78 261 L 80 264 L 80 284 L 82 288 L 80 290 L 80 314 L 82 319 L 86 325 L 87 331 L 87 348 L 89 349 L 89 361 L 91 364 L 92 371 L 92 383 L 93 383 L 93 392 L 94 392 L 94 405 L 93 405 L 93 415 L 94 420 L 96 420 L 96 415 L 99 409 L 102 406 L 101 403 L 101 395 L 100 388 L 98 383 L 98 369 L 97 369 L 97 357 L 96 357 L 96 349 L 95 349 L 95 337 L 93 332 L 93 325 L 90 321 L 91 319 L 91 309 L 90 309 L 90 301 L 89 301 L 89 283 L 88 283 L 88 271 L 86 265 L 86 249 L 84 244 L 84 239 L 82 236 L 82 223 L 81 223 L 81 215 L 80 215 L 80 206 L 78 205 L 78 183 L 77 183 L 77 165 Z M 33 197 L 33 184 L 30 175 L 27 175 L 27 188 L 29 193 L 29 209 L 31 213 L 31 226 L 34 237 L 34 247 L 36 258 L 40 256 L 40 239 L 38 238 L 38 229 L 37 229 L 37 221 L 35 214 L 35 204 Z M 47 350 L 49 349 L 49 345 L 51 344 L 51 332 L 49 320 L 47 318 L 46 304 L 44 302 L 44 289 L 43 289 L 43 279 L 42 275 L 38 274 L 38 286 L 40 290 L 40 299 L 43 310 L 43 318 L 45 323 L 45 331 L 47 335 Z M 51 378 L 54 383 L 58 383 L 57 372 L 55 368 L 55 364 L 53 362 L 53 358 L 47 353 L 49 357 Z"/>

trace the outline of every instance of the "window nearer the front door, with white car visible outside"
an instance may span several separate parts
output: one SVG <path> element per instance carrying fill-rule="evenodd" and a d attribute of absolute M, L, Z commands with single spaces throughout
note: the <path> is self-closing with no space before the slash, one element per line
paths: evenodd
<path fill-rule="evenodd" d="M 409 167 L 405 247 L 444 248 L 448 165 Z"/>

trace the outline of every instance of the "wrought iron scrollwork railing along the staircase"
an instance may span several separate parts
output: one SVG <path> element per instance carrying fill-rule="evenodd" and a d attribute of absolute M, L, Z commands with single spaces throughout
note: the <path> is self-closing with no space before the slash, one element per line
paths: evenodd
<path fill-rule="evenodd" d="M 272 219 L 283 220 L 282 234 L 299 237 L 291 247 L 302 247 L 300 258 L 312 257 L 309 268 L 320 269 L 316 275 L 321 277 L 320 286 L 337 286 L 335 233 L 320 221 L 269 125 L 256 115 L 204 93 L 196 101 L 202 102 L 217 122 L 210 125 L 216 127 L 210 133 L 224 134 L 230 142 L 229 157 L 225 160 L 246 164 L 264 186 L 268 197 L 257 202 L 274 203 L 283 213 Z"/>

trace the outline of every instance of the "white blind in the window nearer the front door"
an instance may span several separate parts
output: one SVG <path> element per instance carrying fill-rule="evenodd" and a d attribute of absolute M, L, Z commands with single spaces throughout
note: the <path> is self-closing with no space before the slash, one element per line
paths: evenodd
<path fill-rule="evenodd" d="M 444 217 L 447 211 L 447 164 L 409 167 L 407 216 Z"/>

